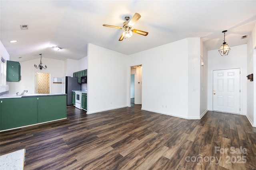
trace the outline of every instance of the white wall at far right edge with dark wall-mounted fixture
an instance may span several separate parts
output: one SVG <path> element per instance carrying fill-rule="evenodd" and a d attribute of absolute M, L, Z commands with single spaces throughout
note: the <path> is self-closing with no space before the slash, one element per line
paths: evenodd
<path fill-rule="evenodd" d="M 250 123 L 256 127 L 256 23 L 247 42 L 247 73 L 254 74 L 254 81 L 247 80 L 247 117 Z"/>

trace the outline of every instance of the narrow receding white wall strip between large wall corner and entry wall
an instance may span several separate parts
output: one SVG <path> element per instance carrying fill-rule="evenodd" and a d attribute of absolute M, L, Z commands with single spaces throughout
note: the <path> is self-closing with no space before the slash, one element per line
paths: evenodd
<path fill-rule="evenodd" d="M 207 111 L 207 71 L 208 71 L 208 49 L 201 42 L 201 69 L 200 69 L 200 117 Z"/>

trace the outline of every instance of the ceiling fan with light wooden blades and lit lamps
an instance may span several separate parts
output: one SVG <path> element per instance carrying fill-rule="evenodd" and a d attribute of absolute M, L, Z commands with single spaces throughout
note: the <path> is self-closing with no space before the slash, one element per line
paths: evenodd
<path fill-rule="evenodd" d="M 141 16 L 138 13 L 135 13 L 131 20 L 130 20 L 129 16 L 126 16 L 125 17 L 126 21 L 124 21 L 123 27 L 114 26 L 114 25 L 106 25 L 106 24 L 103 24 L 103 26 L 124 29 L 125 31 L 122 33 L 121 37 L 119 38 L 119 41 L 122 41 L 125 37 L 132 37 L 132 33 L 137 33 L 140 35 L 147 36 L 148 32 L 146 32 L 146 31 L 141 31 L 139 29 L 132 29 L 132 26 L 140 19 L 140 17 Z"/>

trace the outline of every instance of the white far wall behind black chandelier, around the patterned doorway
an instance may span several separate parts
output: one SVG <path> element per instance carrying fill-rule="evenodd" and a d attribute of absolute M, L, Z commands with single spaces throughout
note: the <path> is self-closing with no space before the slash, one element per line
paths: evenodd
<path fill-rule="evenodd" d="M 50 93 L 61 93 L 62 84 L 53 84 L 53 77 L 63 77 L 64 76 L 64 61 L 55 60 L 42 57 L 42 63 L 47 66 L 47 69 L 36 69 L 34 64 L 38 65 L 40 62 L 40 57 L 38 59 L 33 59 L 29 61 L 20 62 L 20 72 L 21 80 L 20 82 L 9 82 L 9 92 L 23 92 L 23 90 L 28 90 L 28 93 L 35 92 L 35 73 L 44 72 L 50 73 Z"/>

